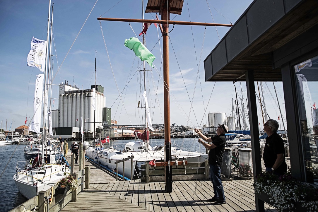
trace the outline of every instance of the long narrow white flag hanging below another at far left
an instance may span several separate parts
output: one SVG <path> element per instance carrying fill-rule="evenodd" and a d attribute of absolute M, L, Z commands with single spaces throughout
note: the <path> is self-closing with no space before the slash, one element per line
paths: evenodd
<path fill-rule="evenodd" d="M 40 133 L 41 103 L 42 103 L 44 74 L 39 74 L 37 75 L 37 77 L 38 78 L 35 81 L 35 91 L 34 91 L 34 99 L 33 99 L 34 116 L 31 120 L 31 125 L 29 130 L 35 133 Z"/>

